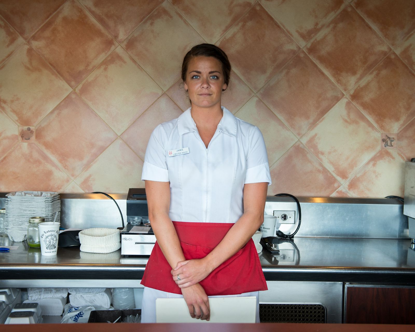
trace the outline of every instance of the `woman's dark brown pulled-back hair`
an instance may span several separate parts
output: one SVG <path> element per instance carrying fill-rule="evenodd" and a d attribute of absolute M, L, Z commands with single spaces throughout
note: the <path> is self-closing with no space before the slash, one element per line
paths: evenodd
<path fill-rule="evenodd" d="M 192 49 L 190 49 L 190 51 L 186 53 L 183 59 L 181 72 L 181 78 L 183 82 L 186 81 L 186 73 L 189 66 L 189 62 L 193 57 L 214 57 L 215 59 L 219 60 L 219 62 L 222 64 L 224 83 L 226 85 L 229 84 L 229 79 L 231 76 L 231 64 L 228 60 L 226 53 L 213 44 L 199 44 L 193 46 Z M 222 91 L 225 90 L 222 89 Z"/>

